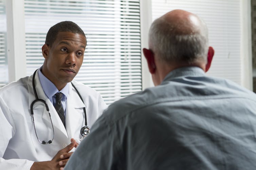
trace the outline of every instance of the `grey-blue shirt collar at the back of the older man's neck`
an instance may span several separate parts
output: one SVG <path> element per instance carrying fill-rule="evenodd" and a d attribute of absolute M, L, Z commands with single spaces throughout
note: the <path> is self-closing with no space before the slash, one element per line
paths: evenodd
<path fill-rule="evenodd" d="M 177 77 L 184 77 L 184 76 L 205 76 L 205 72 L 200 67 L 190 66 L 190 67 L 181 67 L 169 72 L 162 83 L 171 80 Z"/>

